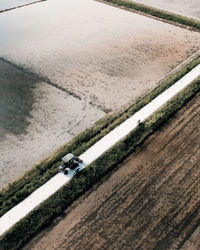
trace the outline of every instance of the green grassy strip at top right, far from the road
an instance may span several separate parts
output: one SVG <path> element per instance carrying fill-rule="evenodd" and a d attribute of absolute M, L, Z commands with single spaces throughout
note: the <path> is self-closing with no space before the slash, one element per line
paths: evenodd
<path fill-rule="evenodd" d="M 184 17 L 181 15 L 177 15 L 177 14 L 165 11 L 165 10 L 160 10 L 157 8 L 153 8 L 150 6 L 146 6 L 146 5 L 128 1 L 128 0 L 100 0 L 100 1 L 108 2 L 110 4 L 113 4 L 119 7 L 125 7 L 127 9 L 134 9 L 136 11 L 140 11 L 151 16 L 166 19 L 168 21 L 180 23 L 182 25 L 190 26 L 192 28 L 200 30 L 200 22 L 198 20 L 195 20 L 189 17 Z"/>

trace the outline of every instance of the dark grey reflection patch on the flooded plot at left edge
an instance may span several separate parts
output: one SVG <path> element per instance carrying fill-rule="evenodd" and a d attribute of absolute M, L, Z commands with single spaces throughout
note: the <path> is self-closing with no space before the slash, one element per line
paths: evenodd
<path fill-rule="evenodd" d="M 7 133 L 24 133 L 38 79 L 0 60 L 0 139 Z"/>

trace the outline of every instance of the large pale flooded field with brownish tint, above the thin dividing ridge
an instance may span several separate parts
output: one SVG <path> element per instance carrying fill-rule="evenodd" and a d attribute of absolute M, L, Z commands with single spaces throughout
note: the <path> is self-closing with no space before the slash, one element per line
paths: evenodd
<path fill-rule="evenodd" d="M 197 32 L 93 0 L 2 13 L 0 36 L 1 57 L 106 111 L 127 107 L 200 47 Z"/>

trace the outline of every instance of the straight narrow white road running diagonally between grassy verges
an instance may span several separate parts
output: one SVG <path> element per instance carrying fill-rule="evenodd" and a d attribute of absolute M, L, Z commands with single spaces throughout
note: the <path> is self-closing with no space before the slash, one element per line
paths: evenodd
<path fill-rule="evenodd" d="M 112 130 L 109 134 L 104 136 L 101 140 L 95 143 L 85 153 L 79 157 L 86 163 L 86 166 L 96 160 L 106 150 L 112 147 L 116 142 L 128 135 L 130 131 L 137 127 L 138 120 L 144 121 L 151 116 L 157 109 L 159 109 L 164 103 L 169 101 L 178 92 L 189 85 L 195 78 L 200 76 L 200 64 L 196 66 L 192 71 L 186 74 L 178 82 L 176 82 L 169 89 L 164 91 L 153 101 L 123 122 L 121 125 Z M 59 188 L 66 184 L 73 176 L 58 173 L 48 182 L 38 188 L 25 200 L 20 202 L 6 214 L 0 218 L 0 235 L 11 228 L 16 222 L 26 216 L 31 210 L 37 207 L 41 202 L 46 200 L 52 194 L 54 194 Z"/>

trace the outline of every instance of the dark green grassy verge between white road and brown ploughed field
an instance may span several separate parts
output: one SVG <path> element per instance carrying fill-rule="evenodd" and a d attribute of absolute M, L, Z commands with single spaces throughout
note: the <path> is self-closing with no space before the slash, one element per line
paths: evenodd
<path fill-rule="evenodd" d="M 0 249 L 18 249 L 38 230 L 44 228 L 77 197 L 106 173 L 121 163 L 147 136 L 156 131 L 170 116 L 200 91 L 200 78 L 193 81 L 172 100 L 163 105 L 144 123 L 109 149 L 94 163 L 77 174 L 57 193 L 44 201 L 28 216 L 14 225 L 0 239 Z"/>

